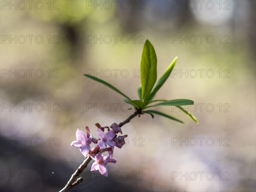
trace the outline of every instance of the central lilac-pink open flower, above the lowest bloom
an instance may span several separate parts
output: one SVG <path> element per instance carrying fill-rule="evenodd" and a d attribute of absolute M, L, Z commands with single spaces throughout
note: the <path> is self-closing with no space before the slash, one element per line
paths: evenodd
<path fill-rule="evenodd" d="M 115 146 L 116 142 L 113 141 L 113 138 L 116 136 L 116 131 L 111 130 L 107 133 L 104 133 L 101 129 L 97 129 L 97 135 L 100 140 L 98 140 L 98 145 L 100 148 L 106 148 L 107 145 Z"/>

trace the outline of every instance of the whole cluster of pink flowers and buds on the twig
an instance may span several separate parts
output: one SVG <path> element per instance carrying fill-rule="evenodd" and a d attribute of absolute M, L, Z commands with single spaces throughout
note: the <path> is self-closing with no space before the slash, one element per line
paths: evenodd
<path fill-rule="evenodd" d="M 99 170 L 102 175 L 107 177 L 108 169 L 106 164 L 116 163 L 116 160 L 112 158 L 114 146 L 122 148 L 122 145 L 125 144 L 124 139 L 127 137 L 127 135 L 117 137 L 118 133 L 122 134 L 122 130 L 116 123 L 113 123 L 110 126 L 112 130 L 110 130 L 110 128 L 107 126 L 101 127 L 99 123 L 96 123 L 96 126 L 99 139 L 96 139 L 93 137 L 93 135 L 90 134 L 89 127 L 86 127 L 86 134 L 83 131 L 77 129 L 76 141 L 73 141 L 71 146 L 80 148 L 80 151 L 84 157 L 90 155 L 91 158 L 95 160 L 91 171 Z M 105 129 L 107 129 L 106 133 Z M 90 148 L 91 143 L 95 143 L 96 145 L 93 148 Z M 106 151 L 108 151 L 108 155 L 104 156 L 102 153 Z"/>

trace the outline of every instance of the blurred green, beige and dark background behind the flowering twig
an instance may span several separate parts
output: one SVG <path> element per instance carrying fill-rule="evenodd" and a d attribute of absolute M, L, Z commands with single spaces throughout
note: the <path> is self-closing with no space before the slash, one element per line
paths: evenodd
<path fill-rule="evenodd" d="M 192 99 L 122 127 L 109 176 L 88 168 L 72 191 L 256 190 L 255 7 L 236 1 L 5 1 L 0 9 L 0 189 L 60 190 L 84 160 L 77 128 L 109 126 L 133 113 L 102 78 L 132 99 L 149 39 L 158 78 L 175 69 L 156 99 Z"/>

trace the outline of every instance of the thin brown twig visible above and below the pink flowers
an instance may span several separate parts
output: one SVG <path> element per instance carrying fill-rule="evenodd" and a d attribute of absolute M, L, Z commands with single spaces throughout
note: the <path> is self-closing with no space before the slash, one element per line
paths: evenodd
<path fill-rule="evenodd" d="M 123 122 L 120 122 L 118 124 L 118 126 L 122 127 L 126 123 L 130 122 L 131 119 L 134 118 L 135 116 L 137 116 L 138 114 L 140 114 L 140 112 L 138 112 L 136 110 L 131 116 L 129 116 Z M 59 192 L 68 192 L 70 189 L 77 186 L 79 183 L 81 183 L 83 181 L 82 177 L 79 177 L 78 179 L 76 179 L 76 177 L 78 177 L 81 174 L 81 172 L 84 171 L 84 169 L 90 163 L 90 160 L 92 160 L 92 158 L 89 155 L 88 157 L 86 157 L 86 159 L 83 161 L 83 163 L 76 169 L 76 171 L 71 175 L 70 180 L 67 182 L 67 184 L 64 186 L 64 188 L 61 189 Z"/>

